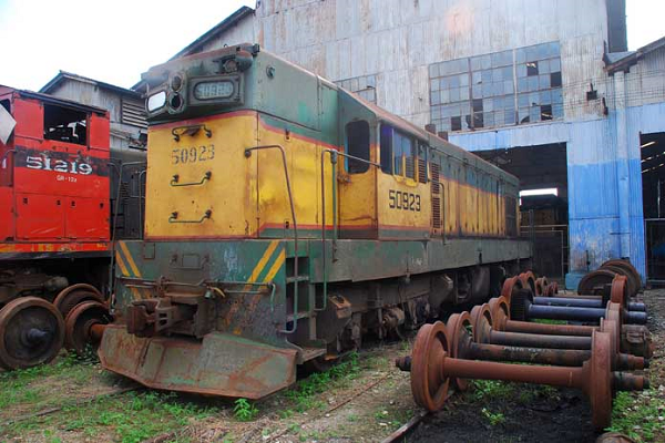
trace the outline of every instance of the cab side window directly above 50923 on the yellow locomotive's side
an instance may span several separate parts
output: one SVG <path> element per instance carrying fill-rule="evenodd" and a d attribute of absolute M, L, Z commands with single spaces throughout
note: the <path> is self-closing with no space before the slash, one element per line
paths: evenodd
<path fill-rule="evenodd" d="M 381 171 L 416 179 L 416 146 L 408 135 L 381 125 Z"/>

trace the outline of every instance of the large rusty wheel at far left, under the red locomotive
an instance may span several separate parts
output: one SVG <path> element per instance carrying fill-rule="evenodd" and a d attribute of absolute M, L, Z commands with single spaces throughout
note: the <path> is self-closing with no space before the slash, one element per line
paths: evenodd
<path fill-rule="evenodd" d="M 53 360 L 64 342 L 64 320 L 53 305 L 21 297 L 0 310 L 0 367 L 32 368 Z"/>

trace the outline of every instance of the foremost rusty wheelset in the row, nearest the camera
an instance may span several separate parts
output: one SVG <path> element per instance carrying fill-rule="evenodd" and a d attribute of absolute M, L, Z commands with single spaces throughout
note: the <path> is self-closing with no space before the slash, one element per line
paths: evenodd
<path fill-rule="evenodd" d="M 441 321 L 420 328 L 410 358 L 399 359 L 397 364 L 411 372 L 411 392 L 416 402 L 428 411 L 437 411 L 448 399 L 451 379 L 504 380 L 522 383 L 550 384 L 582 390 L 591 400 L 593 424 L 596 429 L 610 425 L 612 395 L 615 391 L 641 390 L 648 388 L 648 381 L 642 375 L 612 370 L 612 336 L 608 332 L 594 331 L 589 360 L 582 367 L 548 367 L 500 363 L 479 358 L 471 347 L 462 346 L 460 339 L 451 340 L 453 334 L 463 337 L 472 326 L 461 316 L 454 327 L 447 328 Z M 473 332 L 471 332 L 473 333 Z M 461 339 L 469 343 L 468 339 Z M 480 349 L 480 348 L 479 348 Z M 456 356 L 462 354 L 462 357 Z"/>

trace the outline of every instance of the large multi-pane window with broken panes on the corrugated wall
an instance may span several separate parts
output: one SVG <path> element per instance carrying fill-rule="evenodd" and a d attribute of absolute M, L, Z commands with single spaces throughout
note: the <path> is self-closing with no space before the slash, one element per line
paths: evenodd
<path fill-rule="evenodd" d="M 559 42 L 429 66 L 437 131 L 467 131 L 563 119 Z"/>

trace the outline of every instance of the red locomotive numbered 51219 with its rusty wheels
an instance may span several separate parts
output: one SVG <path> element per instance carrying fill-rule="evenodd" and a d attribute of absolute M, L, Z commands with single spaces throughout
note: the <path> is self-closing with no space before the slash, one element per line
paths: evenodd
<path fill-rule="evenodd" d="M 0 85 L 0 367 L 53 359 L 79 303 L 105 310 L 120 156 L 105 110 Z"/>

